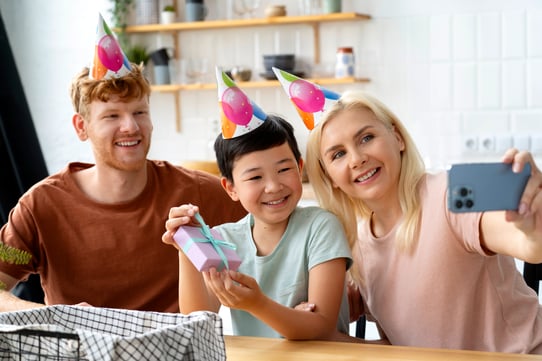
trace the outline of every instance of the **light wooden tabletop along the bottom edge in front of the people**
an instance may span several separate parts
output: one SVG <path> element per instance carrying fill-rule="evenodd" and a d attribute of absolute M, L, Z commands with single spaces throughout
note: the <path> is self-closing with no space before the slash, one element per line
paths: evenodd
<path fill-rule="evenodd" d="M 228 361 L 422 360 L 513 361 L 542 360 L 542 355 L 381 346 L 327 341 L 286 341 L 263 337 L 225 336 Z"/>

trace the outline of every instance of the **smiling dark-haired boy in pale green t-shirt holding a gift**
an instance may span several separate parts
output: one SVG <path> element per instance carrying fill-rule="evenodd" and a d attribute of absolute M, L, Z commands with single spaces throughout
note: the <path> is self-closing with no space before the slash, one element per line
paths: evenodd
<path fill-rule="evenodd" d="M 344 285 L 351 259 L 342 226 L 321 208 L 298 206 L 303 160 L 293 127 L 274 115 L 253 124 L 245 133 L 221 134 L 215 141 L 222 187 L 249 212 L 236 223 L 215 227 L 237 246 L 241 266 L 237 272 L 199 272 L 179 251 L 181 312 L 218 312 L 224 305 L 236 335 L 335 339 L 337 330 L 348 333 Z M 198 206 L 171 210 L 165 243 L 179 248 L 172 234 L 205 211 Z M 318 307 L 295 309 L 304 301 Z"/>

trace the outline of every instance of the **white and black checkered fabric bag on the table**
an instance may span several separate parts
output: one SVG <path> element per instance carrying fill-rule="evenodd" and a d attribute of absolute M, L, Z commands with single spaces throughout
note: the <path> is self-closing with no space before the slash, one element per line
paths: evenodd
<path fill-rule="evenodd" d="M 225 360 L 220 316 L 48 306 L 0 313 L 0 360 Z"/>

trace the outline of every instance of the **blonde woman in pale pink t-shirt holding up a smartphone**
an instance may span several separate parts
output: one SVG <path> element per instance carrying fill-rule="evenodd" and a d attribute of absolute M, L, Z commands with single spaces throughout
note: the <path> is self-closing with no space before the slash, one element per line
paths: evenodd
<path fill-rule="evenodd" d="M 348 92 L 326 111 L 306 166 L 352 247 L 352 320 L 394 345 L 542 353 L 542 309 L 514 262 L 542 262 L 542 174 L 526 152 L 503 162 L 532 167 L 518 212 L 450 213 L 446 173 L 425 171 L 384 104 Z"/>

